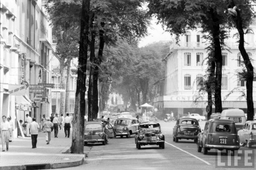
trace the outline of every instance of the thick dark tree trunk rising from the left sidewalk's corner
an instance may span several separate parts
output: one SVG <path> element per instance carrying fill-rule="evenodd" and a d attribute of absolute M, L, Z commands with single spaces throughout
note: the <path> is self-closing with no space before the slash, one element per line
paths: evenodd
<path fill-rule="evenodd" d="M 86 66 L 89 34 L 90 0 L 82 0 L 79 59 L 76 84 L 76 103 L 73 117 L 71 153 L 84 153 L 84 113 L 86 92 Z"/>

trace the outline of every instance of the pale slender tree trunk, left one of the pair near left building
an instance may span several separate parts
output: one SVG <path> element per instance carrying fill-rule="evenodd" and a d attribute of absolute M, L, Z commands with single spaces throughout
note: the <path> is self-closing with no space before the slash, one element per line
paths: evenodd
<path fill-rule="evenodd" d="M 60 60 L 60 74 L 61 74 L 61 82 L 60 82 L 60 88 L 65 88 L 65 58 L 61 58 Z M 65 98 L 66 98 L 66 92 L 61 92 L 61 101 L 60 101 L 60 115 L 65 115 Z"/>

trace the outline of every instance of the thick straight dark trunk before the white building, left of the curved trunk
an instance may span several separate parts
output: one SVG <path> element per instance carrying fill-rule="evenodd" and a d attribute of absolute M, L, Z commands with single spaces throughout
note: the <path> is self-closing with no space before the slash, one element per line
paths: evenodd
<path fill-rule="evenodd" d="M 221 102 L 221 77 L 222 77 L 222 54 L 220 43 L 220 25 L 218 23 L 218 14 L 212 10 L 212 39 L 214 45 L 214 58 L 216 62 L 216 74 L 215 74 L 215 113 L 222 112 Z"/>

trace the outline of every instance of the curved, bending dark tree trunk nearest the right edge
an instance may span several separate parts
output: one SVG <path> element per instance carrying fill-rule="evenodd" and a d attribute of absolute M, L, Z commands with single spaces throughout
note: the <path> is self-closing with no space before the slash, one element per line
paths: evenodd
<path fill-rule="evenodd" d="M 246 100 L 247 100 L 247 120 L 253 120 L 254 105 L 253 105 L 253 65 L 250 62 L 250 58 L 244 48 L 244 30 L 243 21 L 240 16 L 240 11 L 236 9 L 237 17 L 233 17 L 236 22 L 236 28 L 239 32 L 239 51 L 244 59 L 244 65 L 246 67 Z"/>

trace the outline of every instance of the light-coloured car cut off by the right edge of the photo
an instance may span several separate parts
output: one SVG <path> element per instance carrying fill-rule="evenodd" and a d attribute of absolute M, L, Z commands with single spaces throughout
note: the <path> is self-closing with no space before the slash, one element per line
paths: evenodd
<path fill-rule="evenodd" d="M 245 122 L 243 129 L 239 130 L 237 134 L 240 146 L 247 144 L 247 147 L 250 148 L 253 144 L 256 144 L 256 121 Z"/>

